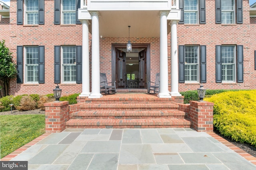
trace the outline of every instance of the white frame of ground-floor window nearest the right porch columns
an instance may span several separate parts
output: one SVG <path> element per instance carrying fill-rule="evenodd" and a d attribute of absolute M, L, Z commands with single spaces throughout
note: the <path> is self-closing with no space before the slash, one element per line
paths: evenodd
<path fill-rule="evenodd" d="M 187 47 L 197 47 L 197 63 L 188 63 L 188 62 L 186 62 L 187 61 L 187 59 L 186 59 L 186 56 L 188 55 L 188 53 L 192 53 L 192 51 L 187 51 L 186 49 L 187 49 Z M 200 60 L 200 53 L 199 53 L 199 46 L 198 45 L 186 45 L 185 46 L 185 56 L 184 56 L 184 61 L 185 61 L 185 70 L 184 70 L 184 77 L 185 77 L 185 82 L 186 83 L 195 83 L 195 82 L 199 82 L 199 70 L 200 70 L 200 68 L 199 68 L 199 60 Z M 192 58 L 191 58 L 192 59 Z M 186 75 L 186 66 L 189 66 L 190 68 L 188 69 L 189 71 L 189 75 Z M 197 80 L 191 80 L 192 79 L 192 72 L 191 72 L 191 70 L 192 70 L 192 66 L 196 66 L 197 67 L 197 74 L 196 74 L 196 76 L 197 76 Z M 189 80 L 186 80 L 186 77 L 189 77 Z M 194 76 L 194 75 L 193 75 Z"/>

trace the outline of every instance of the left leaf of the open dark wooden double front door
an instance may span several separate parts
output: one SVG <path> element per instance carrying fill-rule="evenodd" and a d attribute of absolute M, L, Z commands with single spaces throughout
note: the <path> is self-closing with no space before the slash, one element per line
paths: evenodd
<path fill-rule="evenodd" d="M 116 88 L 126 87 L 125 52 L 116 49 Z"/>

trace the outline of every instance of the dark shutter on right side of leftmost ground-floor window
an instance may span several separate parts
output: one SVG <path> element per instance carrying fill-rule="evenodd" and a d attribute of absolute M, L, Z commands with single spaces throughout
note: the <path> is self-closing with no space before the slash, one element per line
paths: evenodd
<path fill-rule="evenodd" d="M 38 83 L 44 83 L 44 46 L 38 46 Z"/>

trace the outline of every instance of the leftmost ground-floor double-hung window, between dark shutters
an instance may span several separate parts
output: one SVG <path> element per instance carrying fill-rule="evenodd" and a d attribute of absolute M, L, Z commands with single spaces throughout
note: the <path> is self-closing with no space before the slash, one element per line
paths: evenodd
<path fill-rule="evenodd" d="M 38 83 L 38 46 L 25 47 L 25 82 Z"/>

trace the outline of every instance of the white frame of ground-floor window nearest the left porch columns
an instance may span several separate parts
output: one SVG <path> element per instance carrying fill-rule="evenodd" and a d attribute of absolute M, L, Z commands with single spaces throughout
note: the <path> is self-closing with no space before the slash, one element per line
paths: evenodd
<path fill-rule="evenodd" d="M 72 64 L 66 64 L 66 63 L 64 63 L 64 48 L 65 47 L 74 47 L 75 48 L 75 63 L 72 63 Z M 72 45 L 72 46 L 62 46 L 62 48 L 61 48 L 61 63 L 62 63 L 62 67 L 61 67 L 61 70 L 62 70 L 62 83 L 76 83 L 76 46 L 74 46 L 74 45 Z M 71 70 L 70 69 L 70 73 L 69 73 L 69 80 L 67 81 L 67 80 L 65 80 L 65 78 L 64 78 L 64 67 L 65 66 L 74 66 L 75 67 L 75 70 Z M 72 81 L 72 80 L 70 80 L 70 79 L 72 79 L 72 72 L 74 73 L 74 80 Z"/>

